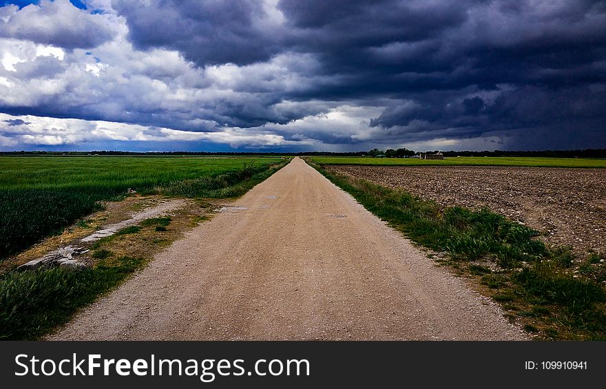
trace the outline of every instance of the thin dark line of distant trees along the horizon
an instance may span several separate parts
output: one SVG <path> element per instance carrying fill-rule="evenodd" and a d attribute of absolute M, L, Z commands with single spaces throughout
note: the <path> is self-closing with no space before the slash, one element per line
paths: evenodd
<path fill-rule="evenodd" d="M 433 151 L 434 153 L 437 150 Z M 551 158 L 606 158 L 606 149 L 545 150 L 545 151 L 442 151 L 446 157 L 551 157 Z M 304 151 L 304 152 L 250 152 L 250 151 L 0 151 L 0 156 L 373 156 L 410 158 L 419 154 L 406 148 L 372 149 L 369 151 Z"/>

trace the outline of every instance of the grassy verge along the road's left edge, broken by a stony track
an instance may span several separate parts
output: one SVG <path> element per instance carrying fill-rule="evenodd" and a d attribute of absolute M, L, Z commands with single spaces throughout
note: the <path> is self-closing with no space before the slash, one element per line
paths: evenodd
<path fill-rule="evenodd" d="M 287 162 L 260 167 L 250 164 L 210 180 L 197 178 L 153 190 L 167 196 L 233 198 L 246 193 Z M 207 217 L 180 215 L 178 220 L 150 218 L 125 227 L 91 246 L 94 265 L 83 271 L 52 268 L 0 274 L 0 339 L 39 339 L 68 322 L 79 308 L 112 291 L 145 266 L 154 252 L 202 220 Z"/>

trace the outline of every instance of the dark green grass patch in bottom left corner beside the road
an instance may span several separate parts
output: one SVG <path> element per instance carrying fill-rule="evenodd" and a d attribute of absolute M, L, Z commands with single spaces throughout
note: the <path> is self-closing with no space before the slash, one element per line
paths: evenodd
<path fill-rule="evenodd" d="M 112 265 L 101 260 L 83 271 L 53 268 L 0 275 L 0 339 L 39 339 L 145 263 L 121 257 Z"/>

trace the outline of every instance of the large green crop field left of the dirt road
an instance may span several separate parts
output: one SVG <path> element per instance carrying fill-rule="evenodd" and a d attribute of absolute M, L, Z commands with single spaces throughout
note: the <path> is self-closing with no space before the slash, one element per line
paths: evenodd
<path fill-rule="evenodd" d="M 0 157 L 0 260 L 138 193 L 228 198 L 281 158 Z M 252 181 L 251 181 L 252 180 Z"/>

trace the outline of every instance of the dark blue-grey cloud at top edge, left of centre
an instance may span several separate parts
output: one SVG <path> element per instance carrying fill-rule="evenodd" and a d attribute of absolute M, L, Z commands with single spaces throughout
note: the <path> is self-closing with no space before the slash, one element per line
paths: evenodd
<path fill-rule="evenodd" d="M 117 0 L 113 5 L 126 17 L 138 48 L 173 48 L 199 65 L 267 61 L 281 49 L 271 26 L 257 23 L 264 15 L 260 2 Z"/>

